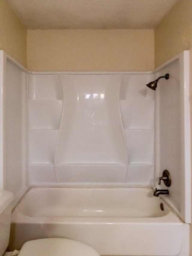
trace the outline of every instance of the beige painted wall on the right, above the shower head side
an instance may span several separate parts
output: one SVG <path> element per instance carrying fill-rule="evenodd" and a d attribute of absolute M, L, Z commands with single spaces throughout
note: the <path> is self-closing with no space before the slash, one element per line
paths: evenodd
<path fill-rule="evenodd" d="M 155 67 L 168 59 L 190 50 L 190 105 L 192 106 L 192 1 L 179 0 L 155 28 Z M 192 108 L 191 108 L 192 121 Z M 192 128 L 192 122 L 191 122 Z M 191 129 L 192 134 L 192 129 Z M 191 143 L 192 149 L 192 143 Z M 190 231 L 192 255 L 192 227 Z"/>

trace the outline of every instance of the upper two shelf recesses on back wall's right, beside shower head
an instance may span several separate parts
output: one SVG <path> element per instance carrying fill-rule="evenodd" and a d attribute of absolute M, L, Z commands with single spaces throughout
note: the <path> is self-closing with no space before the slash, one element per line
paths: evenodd
<path fill-rule="evenodd" d="M 124 75 L 120 106 L 124 129 L 154 129 L 155 93 L 145 85 L 153 74 Z"/>

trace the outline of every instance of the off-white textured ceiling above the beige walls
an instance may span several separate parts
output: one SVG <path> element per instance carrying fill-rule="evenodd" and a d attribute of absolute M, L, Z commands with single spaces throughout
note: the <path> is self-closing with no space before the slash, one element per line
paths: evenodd
<path fill-rule="evenodd" d="M 7 0 L 28 29 L 152 29 L 178 0 Z"/>

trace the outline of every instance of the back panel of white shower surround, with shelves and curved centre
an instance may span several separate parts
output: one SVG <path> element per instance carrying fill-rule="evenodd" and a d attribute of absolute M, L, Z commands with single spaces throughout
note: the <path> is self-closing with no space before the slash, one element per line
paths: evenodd
<path fill-rule="evenodd" d="M 153 185 L 152 76 L 29 74 L 29 184 Z"/>

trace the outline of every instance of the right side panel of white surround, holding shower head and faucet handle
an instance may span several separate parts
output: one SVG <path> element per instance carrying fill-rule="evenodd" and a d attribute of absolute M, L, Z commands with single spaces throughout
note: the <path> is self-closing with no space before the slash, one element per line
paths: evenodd
<path fill-rule="evenodd" d="M 167 169 L 172 178 L 170 195 L 166 200 L 178 215 L 190 223 L 190 106 L 189 55 L 179 54 L 155 72 L 161 79 L 156 89 L 156 187 L 166 189 L 158 177 Z"/>

